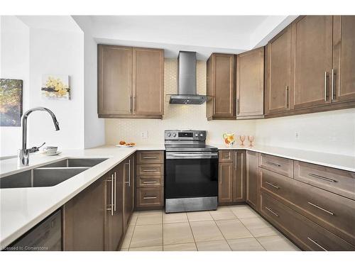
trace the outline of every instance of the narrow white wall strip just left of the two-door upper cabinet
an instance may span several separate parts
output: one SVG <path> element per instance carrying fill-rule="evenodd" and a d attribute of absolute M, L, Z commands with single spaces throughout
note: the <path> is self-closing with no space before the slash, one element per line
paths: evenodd
<path fill-rule="evenodd" d="M 97 116 L 97 43 L 92 38 L 92 21 L 73 16 L 84 32 L 84 147 L 105 143 L 104 119 Z"/>

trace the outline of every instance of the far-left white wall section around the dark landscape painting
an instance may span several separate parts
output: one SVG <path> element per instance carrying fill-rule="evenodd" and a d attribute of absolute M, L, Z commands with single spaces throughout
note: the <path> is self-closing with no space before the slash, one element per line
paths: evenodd
<path fill-rule="evenodd" d="M 0 77 L 23 80 L 23 110 L 29 106 L 30 31 L 16 16 L 1 16 Z M 0 157 L 16 155 L 21 145 L 20 127 L 1 127 Z"/>

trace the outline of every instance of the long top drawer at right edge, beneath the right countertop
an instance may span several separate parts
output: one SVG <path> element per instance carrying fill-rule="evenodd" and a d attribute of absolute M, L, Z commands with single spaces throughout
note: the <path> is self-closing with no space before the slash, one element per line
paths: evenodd
<path fill-rule="evenodd" d="M 355 172 L 295 161 L 295 179 L 355 200 Z"/>

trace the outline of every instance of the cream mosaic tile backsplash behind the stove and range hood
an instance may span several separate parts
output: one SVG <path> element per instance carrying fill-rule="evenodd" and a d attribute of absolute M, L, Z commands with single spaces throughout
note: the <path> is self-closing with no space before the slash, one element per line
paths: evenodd
<path fill-rule="evenodd" d="M 178 60 L 165 58 L 164 94 L 177 93 Z M 206 94 L 206 62 L 197 61 L 197 93 Z M 207 143 L 223 143 L 225 132 L 254 135 L 255 121 L 207 121 L 206 104 L 180 105 L 164 103 L 163 119 L 105 119 L 106 143 L 120 140 L 137 144 L 162 144 L 165 129 L 195 129 L 207 131 Z M 141 133 L 148 131 L 148 138 Z"/>

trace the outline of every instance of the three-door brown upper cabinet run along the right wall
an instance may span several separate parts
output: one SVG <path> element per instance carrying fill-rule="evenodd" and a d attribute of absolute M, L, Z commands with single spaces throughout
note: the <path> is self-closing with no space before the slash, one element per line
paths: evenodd
<path fill-rule="evenodd" d="M 300 16 L 266 46 L 266 117 L 355 107 L 355 16 Z"/>

